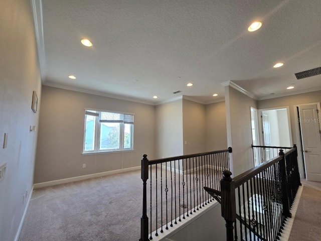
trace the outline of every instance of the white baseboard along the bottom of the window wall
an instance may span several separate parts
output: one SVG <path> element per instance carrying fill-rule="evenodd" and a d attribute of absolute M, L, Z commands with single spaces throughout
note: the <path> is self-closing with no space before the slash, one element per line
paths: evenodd
<path fill-rule="evenodd" d="M 93 174 L 83 175 L 83 176 L 78 176 L 78 177 L 70 177 L 70 178 L 65 178 L 65 179 L 49 181 L 49 182 L 41 182 L 41 183 L 34 184 L 34 189 L 42 188 L 42 187 L 50 187 L 50 186 L 69 183 L 69 182 L 81 181 L 81 180 L 86 180 L 86 179 L 95 178 L 95 177 L 109 176 L 112 174 L 117 174 L 117 173 L 122 173 L 122 172 L 135 171 L 135 170 L 140 170 L 140 168 L 141 168 L 140 166 L 137 166 L 137 167 L 118 169 L 118 170 L 114 170 L 114 171 L 93 173 Z"/>

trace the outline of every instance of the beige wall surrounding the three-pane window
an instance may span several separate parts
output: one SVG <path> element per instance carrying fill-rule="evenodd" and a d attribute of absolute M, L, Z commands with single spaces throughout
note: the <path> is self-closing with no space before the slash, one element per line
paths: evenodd
<path fill-rule="evenodd" d="M 145 153 L 154 158 L 153 105 L 49 86 L 42 96 L 35 183 L 137 167 Z M 85 108 L 134 113 L 134 150 L 83 155 Z"/>

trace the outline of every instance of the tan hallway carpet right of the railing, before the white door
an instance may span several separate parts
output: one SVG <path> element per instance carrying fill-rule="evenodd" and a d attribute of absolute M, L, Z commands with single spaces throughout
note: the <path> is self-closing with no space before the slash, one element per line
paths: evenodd
<path fill-rule="evenodd" d="M 301 180 L 303 190 L 289 241 L 321 240 L 321 183 Z"/>

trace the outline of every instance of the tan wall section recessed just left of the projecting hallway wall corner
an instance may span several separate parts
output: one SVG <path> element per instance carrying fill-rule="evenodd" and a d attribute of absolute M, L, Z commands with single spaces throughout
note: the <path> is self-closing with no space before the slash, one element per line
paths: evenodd
<path fill-rule="evenodd" d="M 206 151 L 226 149 L 225 101 L 205 105 Z"/>

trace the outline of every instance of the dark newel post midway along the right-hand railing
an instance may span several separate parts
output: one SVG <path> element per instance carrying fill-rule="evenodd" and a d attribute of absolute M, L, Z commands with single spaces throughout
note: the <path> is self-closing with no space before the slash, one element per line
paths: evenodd
<path fill-rule="evenodd" d="M 289 199 L 288 199 L 288 192 L 287 192 L 287 178 L 286 178 L 286 169 L 285 169 L 285 157 L 283 150 L 280 149 L 279 156 L 282 157 L 279 163 L 279 174 L 280 174 L 280 181 L 281 181 L 281 193 L 282 193 L 282 206 L 283 206 L 283 215 L 285 217 L 291 217 L 290 207 L 289 207 Z"/>

